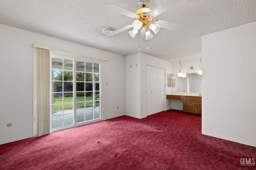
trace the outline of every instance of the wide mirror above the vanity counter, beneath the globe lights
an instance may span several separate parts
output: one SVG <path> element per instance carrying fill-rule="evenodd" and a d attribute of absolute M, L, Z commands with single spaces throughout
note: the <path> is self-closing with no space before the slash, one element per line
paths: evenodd
<path fill-rule="evenodd" d="M 202 76 L 197 73 L 188 73 L 185 78 L 176 76 L 176 88 L 173 92 L 202 92 Z"/>

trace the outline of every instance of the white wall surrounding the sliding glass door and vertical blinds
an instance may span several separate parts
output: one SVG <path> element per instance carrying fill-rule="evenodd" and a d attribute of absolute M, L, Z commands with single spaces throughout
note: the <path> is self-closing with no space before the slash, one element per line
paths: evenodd
<path fill-rule="evenodd" d="M 2 24 L 0 37 L 0 144 L 33 136 L 32 43 L 109 58 L 103 73 L 109 82 L 102 90 L 104 118 L 124 115 L 124 56 Z M 12 127 L 6 127 L 9 122 Z"/>

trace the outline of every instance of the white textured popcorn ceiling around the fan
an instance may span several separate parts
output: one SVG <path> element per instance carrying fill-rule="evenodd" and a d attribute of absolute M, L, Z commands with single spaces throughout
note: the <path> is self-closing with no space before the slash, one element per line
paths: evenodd
<path fill-rule="evenodd" d="M 256 0 L 182 0 L 156 17 L 185 24 L 184 31 L 161 28 L 138 51 L 138 35 L 128 29 L 114 36 L 104 27 L 120 29 L 133 19 L 105 8 L 114 3 L 135 12 L 139 0 L 1 0 L 0 23 L 64 39 L 120 55 L 146 53 L 167 61 L 201 56 L 201 36 L 256 21 Z M 148 0 L 153 8 L 161 0 Z"/>

